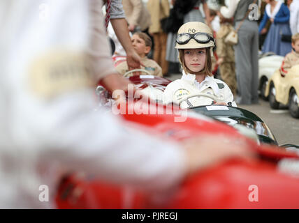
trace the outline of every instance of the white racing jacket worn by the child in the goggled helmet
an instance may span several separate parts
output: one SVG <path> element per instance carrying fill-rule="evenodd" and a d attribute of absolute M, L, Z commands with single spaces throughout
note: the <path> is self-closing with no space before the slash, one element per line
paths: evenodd
<path fill-rule="evenodd" d="M 175 102 L 179 104 L 180 100 L 188 95 L 195 95 L 197 93 L 205 93 L 213 96 L 218 102 L 232 102 L 233 106 L 233 93 L 228 88 L 225 82 L 214 77 L 206 76 L 203 82 L 198 83 L 196 75 L 186 74 L 183 70 L 181 79 L 171 82 L 163 92 L 163 104 Z M 211 105 L 213 102 L 210 98 L 194 97 L 189 98 L 189 102 L 182 102 L 181 107 L 195 107 L 199 105 Z M 191 105 L 190 105 L 191 104 Z"/>

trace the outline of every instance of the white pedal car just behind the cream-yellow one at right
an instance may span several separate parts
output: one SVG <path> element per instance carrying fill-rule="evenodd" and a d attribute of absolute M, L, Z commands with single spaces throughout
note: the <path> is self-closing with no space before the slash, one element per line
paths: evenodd
<path fill-rule="evenodd" d="M 284 56 L 275 55 L 271 52 L 261 55 L 260 59 L 258 59 L 258 91 L 263 100 L 268 100 L 268 97 L 265 97 L 265 88 L 275 70 L 282 65 L 283 60 Z"/>

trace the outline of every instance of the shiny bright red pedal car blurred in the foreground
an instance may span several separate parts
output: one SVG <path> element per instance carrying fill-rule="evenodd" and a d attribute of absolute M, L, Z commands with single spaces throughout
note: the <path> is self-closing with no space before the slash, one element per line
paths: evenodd
<path fill-rule="evenodd" d="M 167 79 L 158 77 L 130 79 L 140 89 L 154 87 L 163 91 L 169 83 Z M 105 95 L 103 89 L 98 93 Z M 153 106 L 166 109 L 159 103 L 149 105 L 148 109 L 153 109 Z M 154 130 L 173 141 L 200 134 L 213 134 L 215 137 L 219 134 L 228 140 L 244 138 L 258 156 L 249 161 L 228 160 L 200 171 L 159 203 L 152 194 L 99 182 L 92 176 L 73 174 L 61 181 L 56 197 L 58 208 L 299 208 L 299 178 L 277 169 L 279 160 L 299 160 L 297 153 L 249 139 L 227 123 L 194 112 L 188 114 L 184 122 L 175 122 L 180 109 L 173 109 L 173 114 L 134 113 L 123 114 L 122 118 L 128 123 L 138 123 L 140 130 Z"/>

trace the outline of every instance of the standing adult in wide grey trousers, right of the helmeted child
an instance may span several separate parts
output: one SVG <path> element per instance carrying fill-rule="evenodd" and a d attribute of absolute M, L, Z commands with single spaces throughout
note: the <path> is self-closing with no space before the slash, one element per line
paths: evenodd
<path fill-rule="evenodd" d="M 258 24 L 247 14 L 253 0 L 231 0 L 229 7 L 222 6 L 221 15 L 234 18 L 235 29 L 245 18 L 238 30 L 238 44 L 235 45 L 235 69 L 238 82 L 238 97 L 235 102 L 242 105 L 258 102 Z M 256 1 L 257 3 L 257 1 Z"/>

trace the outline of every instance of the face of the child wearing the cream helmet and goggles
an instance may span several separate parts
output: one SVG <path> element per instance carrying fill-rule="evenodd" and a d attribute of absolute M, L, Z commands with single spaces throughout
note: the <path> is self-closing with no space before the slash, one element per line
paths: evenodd
<path fill-rule="evenodd" d="M 192 72 L 200 72 L 205 67 L 205 48 L 184 49 L 185 66 Z"/>

